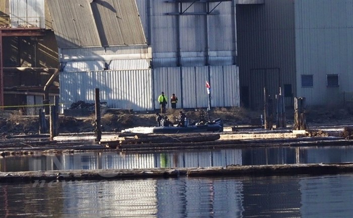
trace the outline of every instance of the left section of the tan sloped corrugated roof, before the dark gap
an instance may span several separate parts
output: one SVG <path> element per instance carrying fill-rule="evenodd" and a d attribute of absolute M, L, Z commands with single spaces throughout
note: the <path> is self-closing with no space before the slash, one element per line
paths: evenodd
<path fill-rule="evenodd" d="M 47 0 L 59 48 L 100 46 L 100 39 L 87 0 Z"/>

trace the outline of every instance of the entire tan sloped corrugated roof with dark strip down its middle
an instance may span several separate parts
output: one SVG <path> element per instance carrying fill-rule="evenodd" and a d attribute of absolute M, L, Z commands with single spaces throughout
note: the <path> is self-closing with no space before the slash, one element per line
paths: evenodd
<path fill-rule="evenodd" d="M 146 44 L 134 0 L 47 0 L 60 48 Z"/>

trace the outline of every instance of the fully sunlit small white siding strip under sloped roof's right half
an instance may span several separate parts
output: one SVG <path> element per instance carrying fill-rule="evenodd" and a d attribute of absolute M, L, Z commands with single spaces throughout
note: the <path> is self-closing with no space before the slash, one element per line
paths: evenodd
<path fill-rule="evenodd" d="M 109 69 L 124 70 L 124 69 L 148 69 L 150 63 L 146 59 L 133 59 L 133 60 L 111 60 Z"/>

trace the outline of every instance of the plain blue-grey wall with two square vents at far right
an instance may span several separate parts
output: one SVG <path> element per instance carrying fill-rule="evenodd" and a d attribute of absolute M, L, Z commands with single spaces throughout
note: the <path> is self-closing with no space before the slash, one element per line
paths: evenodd
<path fill-rule="evenodd" d="M 308 105 L 338 104 L 353 91 L 353 1 L 295 1 L 297 90 Z M 326 75 L 338 74 L 339 87 L 327 87 Z M 301 75 L 313 75 L 313 87 L 301 87 Z"/>

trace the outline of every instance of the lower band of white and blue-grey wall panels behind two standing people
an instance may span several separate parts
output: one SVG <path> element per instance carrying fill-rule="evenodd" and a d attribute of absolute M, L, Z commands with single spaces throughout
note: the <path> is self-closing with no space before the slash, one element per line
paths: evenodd
<path fill-rule="evenodd" d="M 64 108 L 77 101 L 93 102 L 94 89 L 110 108 L 159 109 L 158 96 L 174 93 L 177 108 L 207 108 L 206 81 L 211 85 L 211 107 L 238 107 L 237 66 L 160 67 L 153 70 L 61 72 L 60 94 Z M 65 81 L 65 82 L 63 82 Z"/>

